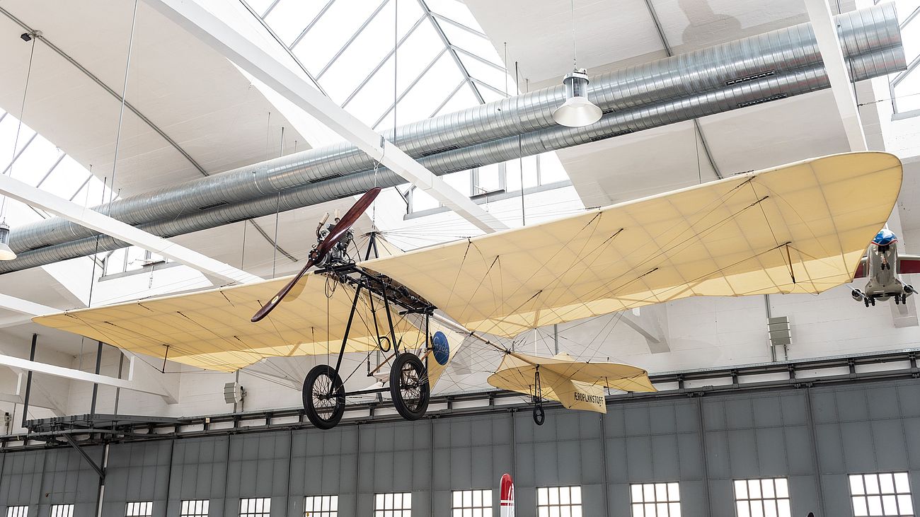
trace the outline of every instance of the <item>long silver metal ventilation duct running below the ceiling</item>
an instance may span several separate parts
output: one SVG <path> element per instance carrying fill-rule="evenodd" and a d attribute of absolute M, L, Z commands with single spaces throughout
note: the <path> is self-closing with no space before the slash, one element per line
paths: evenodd
<path fill-rule="evenodd" d="M 893 5 L 835 19 L 854 81 L 906 67 Z M 829 86 L 811 25 L 800 24 L 595 76 L 588 96 L 604 117 L 591 126 L 552 121 L 565 100 L 556 86 L 402 126 L 397 144 L 435 174 L 447 174 Z M 392 141 L 393 131 L 384 136 Z M 111 216 L 178 236 L 362 192 L 374 185 L 373 167 L 354 145 L 334 144 L 115 201 Z M 377 185 L 403 182 L 389 170 L 377 173 Z M 22 226 L 10 239 L 18 259 L 0 263 L 0 272 L 91 255 L 96 236 L 57 218 Z M 125 246 L 102 236 L 98 251 Z"/>

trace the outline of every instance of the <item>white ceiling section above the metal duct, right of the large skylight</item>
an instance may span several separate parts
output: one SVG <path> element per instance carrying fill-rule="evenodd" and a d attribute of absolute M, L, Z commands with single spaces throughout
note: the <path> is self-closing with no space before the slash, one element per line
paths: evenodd
<path fill-rule="evenodd" d="M 802 0 L 650 0 L 673 53 L 808 21 Z M 841 2 L 844 10 L 853 0 Z M 554 85 L 572 67 L 572 16 L 558 0 L 466 0 L 509 68 L 531 87 Z M 578 62 L 589 75 L 667 57 L 645 0 L 574 0 Z"/>

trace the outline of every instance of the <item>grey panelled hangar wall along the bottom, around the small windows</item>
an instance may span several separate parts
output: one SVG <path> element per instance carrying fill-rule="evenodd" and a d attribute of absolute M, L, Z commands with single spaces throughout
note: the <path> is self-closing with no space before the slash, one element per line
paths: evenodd
<path fill-rule="evenodd" d="M 0 509 L 41 517 L 75 502 L 75 517 L 93 515 L 98 477 L 74 450 L 7 451 L 0 462 Z M 908 471 L 920 491 L 920 381 L 615 402 L 604 417 L 547 411 L 542 427 L 529 411 L 495 409 L 122 443 L 109 449 L 102 516 L 147 500 L 154 517 L 175 516 L 180 500 L 209 499 L 210 517 L 232 517 L 240 498 L 270 497 L 272 517 L 289 517 L 304 514 L 303 496 L 329 494 L 340 515 L 372 515 L 374 493 L 395 491 L 412 492 L 413 515 L 444 515 L 454 489 L 493 488 L 497 508 L 506 471 L 522 515 L 536 513 L 535 487 L 579 485 L 585 515 L 627 516 L 630 483 L 679 481 L 682 514 L 729 517 L 731 480 L 753 477 L 788 477 L 793 515 L 851 515 L 847 474 Z"/>

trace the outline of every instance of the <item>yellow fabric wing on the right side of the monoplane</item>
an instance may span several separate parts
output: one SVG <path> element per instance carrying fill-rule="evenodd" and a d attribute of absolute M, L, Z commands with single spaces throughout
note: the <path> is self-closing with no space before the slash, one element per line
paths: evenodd
<path fill-rule="evenodd" d="M 852 280 L 901 180 L 894 155 L 825 156 L 363 266 L 505 337 L 688 296 L 822 293 Z"/>

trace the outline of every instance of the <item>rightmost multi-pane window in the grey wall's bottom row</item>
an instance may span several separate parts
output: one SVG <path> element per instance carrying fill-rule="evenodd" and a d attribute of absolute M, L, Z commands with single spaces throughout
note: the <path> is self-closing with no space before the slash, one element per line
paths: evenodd
<path fill-rule="evenodd" d="M 914 503 L 906 472 L 850 476 L 853 515 L 914 517 Z"/>

